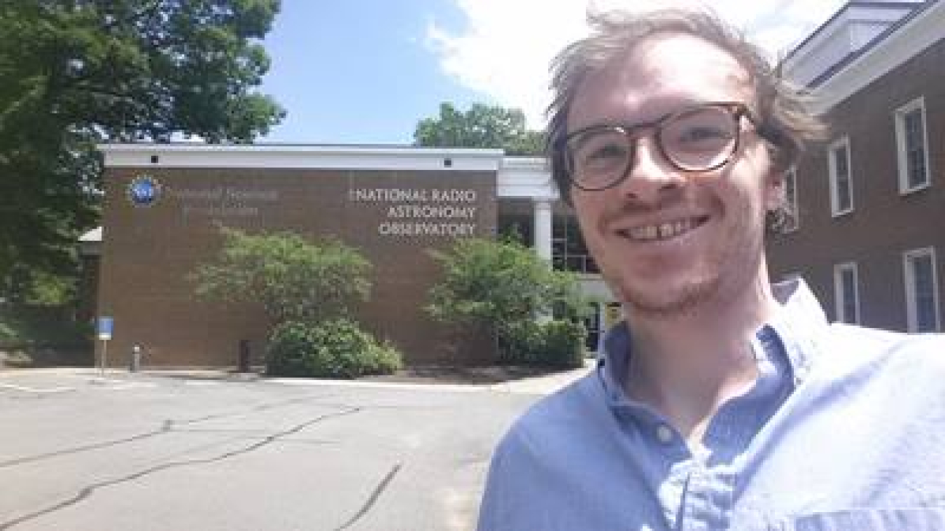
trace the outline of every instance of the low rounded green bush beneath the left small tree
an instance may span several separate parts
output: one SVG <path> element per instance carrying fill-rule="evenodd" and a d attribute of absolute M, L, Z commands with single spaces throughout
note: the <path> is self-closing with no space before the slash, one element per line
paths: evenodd
<path fill-rule="evenodd" d="M 403 365 L 401 354 L 378 343 L 357 323 L 339 317 L 319 323 L 286 321 L 269 337 L 266 372 L 274 376 L 354 378 L 388 374 Z"/>

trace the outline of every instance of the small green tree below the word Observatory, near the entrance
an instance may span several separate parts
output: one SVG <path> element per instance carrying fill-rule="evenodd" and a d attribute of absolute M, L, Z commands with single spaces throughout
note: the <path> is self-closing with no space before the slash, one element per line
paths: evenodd
<path fill-rule="evenodd" d="M 571 320 L 586 311 L 587 300 L 573 273 L 552 270 L 512 238 L 464 238 L 448 252 L 430 252 L 443 278 L 430 290 L 427 313 L 441 322 L 489 331 L 504 359 L 523 361 L 514 351 L 521 350 L 523 342 L 541 343 L 537 317 Z"/>

